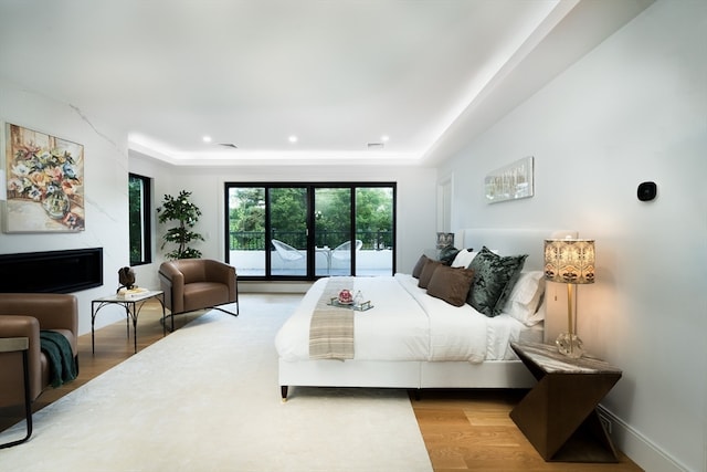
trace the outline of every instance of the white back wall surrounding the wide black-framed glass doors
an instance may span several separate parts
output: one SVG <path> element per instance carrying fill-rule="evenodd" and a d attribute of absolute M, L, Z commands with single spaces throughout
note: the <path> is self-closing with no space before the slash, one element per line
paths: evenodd
<path fill-rule="evenodd" d="M 424 167 L 384 166 L 256 166 L 256 167 L 178 167 L 167 166 L 152 158 L 130 151 L 130 171 L 154 178 L 155 206 L 165 193 L 180 190 L 192 192 L 192 201 L 202 216 L 194 230 L 205 241 L 193 244 L 204 258 L 224 260 L 224 183 L 225 182 L 327 182 L 386 181 L 397 182 L 398 241 L 397 266 L 410 271 L 424 248 L 434 247 L 435 238 L 435 169 Z M 157 270 L 166 251 L 159 250 L 165 227 L 156 227 L 158 251 L 154 263 L 136 268 L 143 283 L 157 286 Z M 165 248 L 167 249 L 167 248 Z M 262 285 L 258 285 L 262 286 Z"/>

